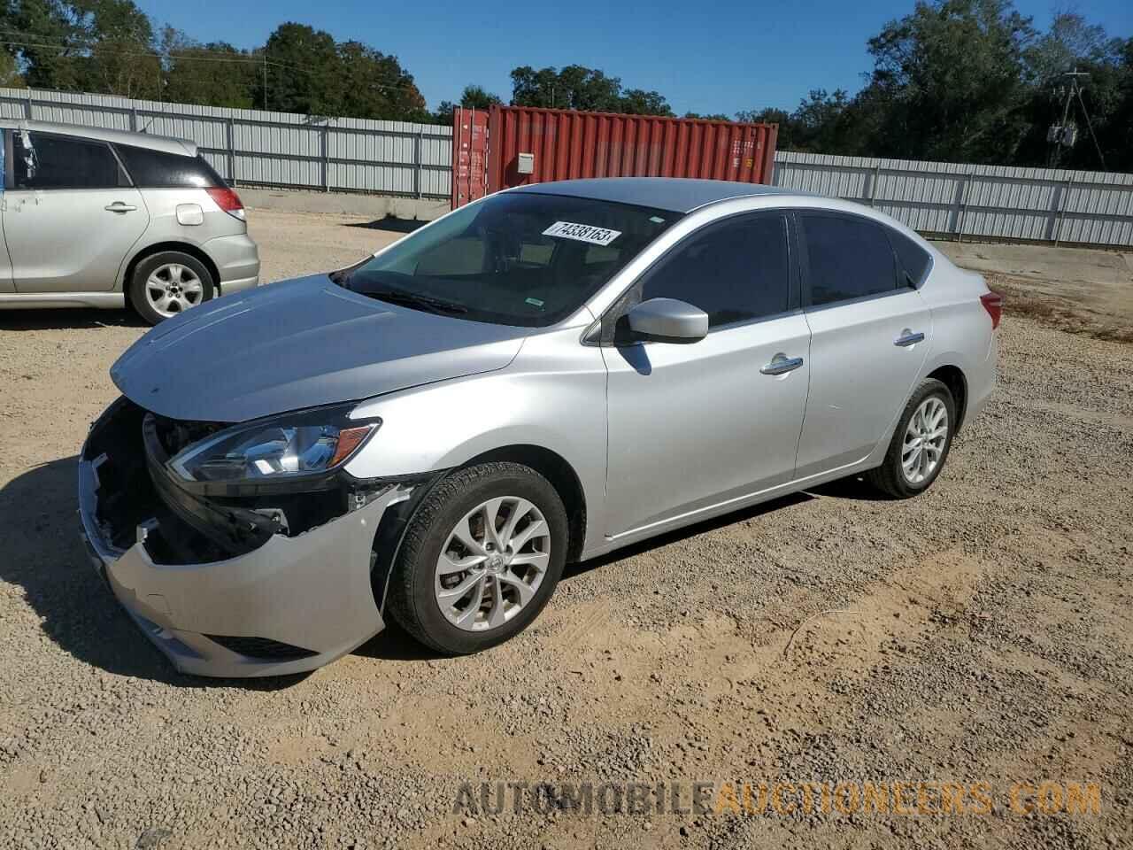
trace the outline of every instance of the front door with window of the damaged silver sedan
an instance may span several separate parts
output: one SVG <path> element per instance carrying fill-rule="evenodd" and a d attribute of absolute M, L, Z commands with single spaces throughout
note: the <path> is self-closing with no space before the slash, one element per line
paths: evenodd
<path fill-rule="evenodd" d="M 786 215 L 759 212 L 691 233 L 638 282 L 641 300 L 705 311 L 708 335 L 603 348 L 607 536 L 791 481 L 810 377 L 793 270 Z"/>

